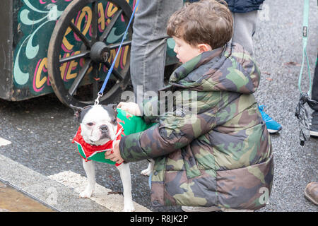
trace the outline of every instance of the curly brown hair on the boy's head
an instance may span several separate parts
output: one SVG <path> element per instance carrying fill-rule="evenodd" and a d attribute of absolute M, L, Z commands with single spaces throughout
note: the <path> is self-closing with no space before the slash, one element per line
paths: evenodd
<path fill-rule="evenodd" d="M 167 35 L 182 38 L 191 45 L 209 44 L 223 47 L 233 35 L 233 18 L 223 0 L 201 0 L 186 4 L 172 14 Z"/>

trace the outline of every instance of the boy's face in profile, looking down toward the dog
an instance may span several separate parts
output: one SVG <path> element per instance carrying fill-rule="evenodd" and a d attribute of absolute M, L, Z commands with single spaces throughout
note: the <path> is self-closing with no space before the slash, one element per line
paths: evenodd
<path fill-rule="evenodd" d="M 182 64 L 203 52 L 199 46 L 192 46 L 179 37 L 173 36 L 173 39 L 175 40 L 175 49 L 173 49 L 173 51 L 175 51 L 177 59 L 179 59 Z"/>

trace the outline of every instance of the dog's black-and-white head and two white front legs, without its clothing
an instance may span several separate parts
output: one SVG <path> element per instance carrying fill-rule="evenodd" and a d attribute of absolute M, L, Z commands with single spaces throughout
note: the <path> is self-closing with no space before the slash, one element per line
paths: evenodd
<path fill-rule="evenodd" d="M 116 139 L 117 105 L 92 105 L 85 108 L 72 106 L 78 121 L 81 123 L 81 136 L 89 145 L 105 145 Z M 95 166 L 94 161 L 83 159 L 88 185 L 80 193 L 81 198 L 90 198 L 95 189 Z M 124 212 L 134 211 L 134 202 L 131 196 L 131 175 L 129 162 L 117 165 L 124 190 Z"/>

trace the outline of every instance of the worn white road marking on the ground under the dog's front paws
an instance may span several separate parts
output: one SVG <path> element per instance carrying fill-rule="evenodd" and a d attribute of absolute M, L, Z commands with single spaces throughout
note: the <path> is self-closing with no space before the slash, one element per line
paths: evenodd
<path fill-rule="evenodd" d="M 53 179 L 61 184 L 64 184 L 70 189 L 73 189 L 73 191 L 78 193 L 78 196 L 81 191 L 84 191 L 87 184 L 86 177 L 82 177 L 81 174 L 76 174 L 75 172 L 71 171 L 53 174 L 49 176 L 49 179 Z M 112 192 L 112 190 L 106 189 L 104 186 L 96 183 L 95 191 L 90 199 L 114 212 L 121 212 L 124 209 L 124 196 L 119 194 L 108 194 L 109 192 Z M 136 212 L 151 212 L 151 210 L 139 205 L 136 202 L 134 202 L 134 206 Z"/>

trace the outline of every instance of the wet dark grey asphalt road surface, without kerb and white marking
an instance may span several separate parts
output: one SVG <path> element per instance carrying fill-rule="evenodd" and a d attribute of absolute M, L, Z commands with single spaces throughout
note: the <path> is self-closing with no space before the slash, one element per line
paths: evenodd
<path fill-rule="evenodd" d="M 317 1 L 310 1 L 310 31 L 307 53 L 313 74 L 317 57 Z M 274 181 L 269 204 L 259 211 L 317 211 L 317 206 L 303 196 L 309 182 L 318 181 L 318 139 L 299 145 L 298 121 L 294 116 L 298 103 L 298 74 L 302 59 L 302 1 L 266 0 L 254 35 L 254 56 L 262 72 L 255 93 L 266 113 L 283 125 L 271 136 L 275 162 Z M 304 74 L 302 90 L 308 90 Z M 309 110 L 310 111 L 310 110 Z M 310 111 L 311 112 L 311 111 Z M 57 97 L 45 95 L 23 102 L 0 100 L 0 137 L 11 145 L 0 154 L 46 176 L 71 170 L 85 176 L 81 157 L 71 143 L 77 122 L 73 110 Z M 147 162 L 132 162 L 132 194 L 137 203 L 153 211 L 180 211 L 179 207 L 153 208 L 148 177 L 140 174 Z M 119 173 L 112 165 L 96 164 L 98 184 L 122 191 Z"/>

